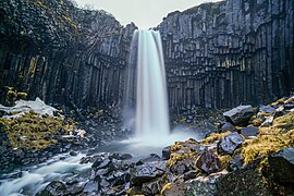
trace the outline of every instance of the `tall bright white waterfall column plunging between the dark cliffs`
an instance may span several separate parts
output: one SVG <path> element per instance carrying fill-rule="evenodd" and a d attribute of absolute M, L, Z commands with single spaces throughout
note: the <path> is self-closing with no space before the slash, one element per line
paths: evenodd
<path fill-rule="evenodd" d="M 136 30 L 134 36 L 138 37 L 136 137 L 144 140 L 164 139 L 169 136 L 170 127 L 160 34 Z"/>

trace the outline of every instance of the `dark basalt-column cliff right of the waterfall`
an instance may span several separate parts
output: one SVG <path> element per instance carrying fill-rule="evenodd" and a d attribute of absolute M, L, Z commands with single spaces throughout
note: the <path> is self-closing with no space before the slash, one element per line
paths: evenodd
<path fill-rule="evenodd" d="M 267 102 L 294 89 L 292 0 L 226 0 L 170 13 L 162 35 L 170 107 Z"/>

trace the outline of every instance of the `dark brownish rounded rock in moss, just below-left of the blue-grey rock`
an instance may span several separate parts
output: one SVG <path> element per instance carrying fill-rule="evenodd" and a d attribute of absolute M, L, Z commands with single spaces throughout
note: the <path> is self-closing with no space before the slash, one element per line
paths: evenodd
<path fill-rule="evenodd" d="M 205 150 L 196 161 L 196 167 L 210 174 L 218 172 L 221 168 L 219 158 L 211 151 Z"/>

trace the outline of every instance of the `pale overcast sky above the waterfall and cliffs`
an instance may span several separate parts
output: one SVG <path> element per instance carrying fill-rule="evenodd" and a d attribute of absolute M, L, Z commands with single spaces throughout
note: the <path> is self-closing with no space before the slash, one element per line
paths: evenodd
<path fill-rule="evenodd" d="M 139 28 L 156 27 L 168 13 L 183 11 L 203 2 L 218 0 L 75 0 L 106 10 L 123 25 L 134 22 Z"/>

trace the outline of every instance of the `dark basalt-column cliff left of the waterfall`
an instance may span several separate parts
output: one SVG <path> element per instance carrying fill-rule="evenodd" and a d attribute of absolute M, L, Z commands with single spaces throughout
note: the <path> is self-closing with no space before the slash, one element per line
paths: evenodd
<path fill-rule="evenodd" d="M 0 86 L 75 107 L 118 103 L 136 27 L 68 0 L 0 2 Z"/>

